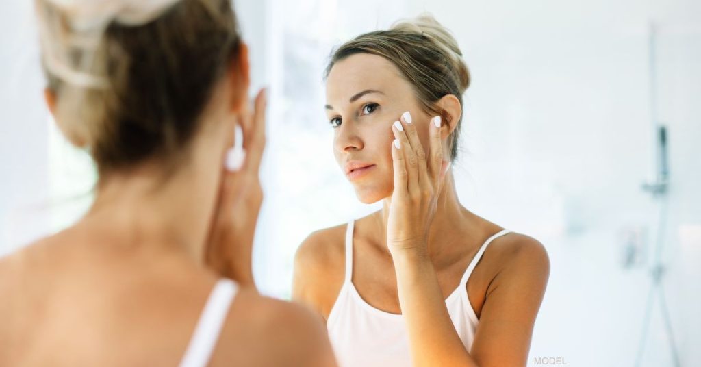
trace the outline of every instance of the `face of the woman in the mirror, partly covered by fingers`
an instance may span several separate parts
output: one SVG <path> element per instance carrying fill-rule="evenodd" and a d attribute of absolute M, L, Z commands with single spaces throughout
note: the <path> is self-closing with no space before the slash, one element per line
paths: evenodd
<path fill-rule="evenodd" d="M 392 194 L 392 124 L 411 112 L 423 147 L 428 121 L 414 90 L 392 62 L 358 53 L 336 62 L 326 81 L 326 114 L 334 128 L 334 156 L 363 203 Z M 428 154 L 428 150 L 424 148 Z M 369 166 L 346 174 L 348 164 Z M 352 168 L 352 167 L 351 167 Z"/>

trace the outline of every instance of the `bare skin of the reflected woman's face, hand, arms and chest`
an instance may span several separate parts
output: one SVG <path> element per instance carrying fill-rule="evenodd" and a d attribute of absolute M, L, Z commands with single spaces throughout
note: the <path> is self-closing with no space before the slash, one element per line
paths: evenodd
<path fill-rule="evenodd" d="M 506 234 L 479 260 L 465 289 L 479 319 L 470 350 L 449 319 L 444 299 L 479 246 L 503 228 L 458 201 L 447 161 L 461 106 L 446 95 L 437 107 L 444 112 L 440 129 L 409 81 L 377 55 L 351 55 L 329 73 L 336 161 L 341 168 L 351 159 L 375 164 L 351 183 L 363 203 L 383 202 L 355 222 L 353 284 L 369 305 L 404 315 L 414 366 L 526 366 L 550 273 L 535 239 Z M 406 111 L 411 124 L 400 118 Z M 325 319 L 343 285 L 345 232 L 346 225 L 314 232 L 295 259 L 293 299 Z"/>

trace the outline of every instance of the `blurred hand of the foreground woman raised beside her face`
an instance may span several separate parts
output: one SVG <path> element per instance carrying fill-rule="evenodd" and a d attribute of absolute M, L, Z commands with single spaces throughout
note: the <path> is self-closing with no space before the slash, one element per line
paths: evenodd
<path fill-rule="evenodd" d="M 236 171 L 222 167 L 222 185 L 205 250 L 209 267 L 244 286 L 255 286 L 252 252 L 263 201 L 259 168 L 265 147 L 266 103 L 265 91 L 261 90 L 254 111 L 246 108 L 239 116 L 245 159 Z"/>

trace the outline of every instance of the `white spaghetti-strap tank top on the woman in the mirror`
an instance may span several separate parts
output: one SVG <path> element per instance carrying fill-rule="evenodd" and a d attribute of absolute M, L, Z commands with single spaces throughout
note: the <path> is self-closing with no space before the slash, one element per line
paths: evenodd
<path fill-rule="evenodd" d="M 402 314 L 392 314 L 369 305 L 355 289 L 353 275 L 353 225 L 346 230 L 346 280 L 329 312 L 329 339 L 341 367 L 411 366 L 409 335 Z M 489 237 L 468 265 L 458 288 L 445 300 L 448 313 L 465 348 L 470 351 L 477 329 L 477 315 L 465 286 L 489 243 L 509 233 L 504 229 Z"/>

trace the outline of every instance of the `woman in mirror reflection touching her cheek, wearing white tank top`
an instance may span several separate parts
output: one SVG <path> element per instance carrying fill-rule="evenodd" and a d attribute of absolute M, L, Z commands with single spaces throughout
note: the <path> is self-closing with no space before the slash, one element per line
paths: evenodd
<path fill-rule="evenodd" d="M 549 260 L 458 201 L 470 76 L 454 38 L 423 15 L 343 44 L 326 75 L 336 161 L 383 208 L 308 236 L 293 298 L 341 366 L 526 366 Z"/>

